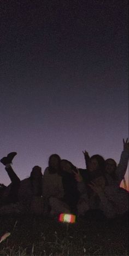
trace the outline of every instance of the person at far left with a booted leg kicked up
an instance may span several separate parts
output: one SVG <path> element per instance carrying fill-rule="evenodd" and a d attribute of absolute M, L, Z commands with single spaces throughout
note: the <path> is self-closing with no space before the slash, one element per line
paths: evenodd
<path fill-rule="evenodd" d="M 11 167 L 12 160 L 16 154 L 16 152 L 11 152 L 1 159 L 1 162 L 5 166 L 5 170 L 10 177 L 11 183 L 3 190 L 1 195 L 0 213 L 4 213 L 4 211 L 7 213 L 19 213 L 20 211 L 24 213 L 26 213 L 26 211 L 32 212 L 31 204 L 34 197 L 42 196 L 43 174 L 41 167 L 34 166 L 30 177 L 20 181 L 19 177 L 17 177 Z M 34 202 L 36 203 L 36 200 L 34 200 Z"/>

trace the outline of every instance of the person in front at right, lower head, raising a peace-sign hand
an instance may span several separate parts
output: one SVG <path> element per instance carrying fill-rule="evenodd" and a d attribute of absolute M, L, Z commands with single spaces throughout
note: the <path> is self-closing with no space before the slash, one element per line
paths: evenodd
<path fill-rule="evenodd" d="M 128 212 L 128 192 L 109 185 L 102 171 L 93 171 L 89 190 L 86 189 L 79 170 L 74 174 L 83 197 L 83 202 L 78 205 L 78 214 L 85 215 L 92 211 L 97 214 L 100 211 L 107 218 L 115 218 Z"/>

